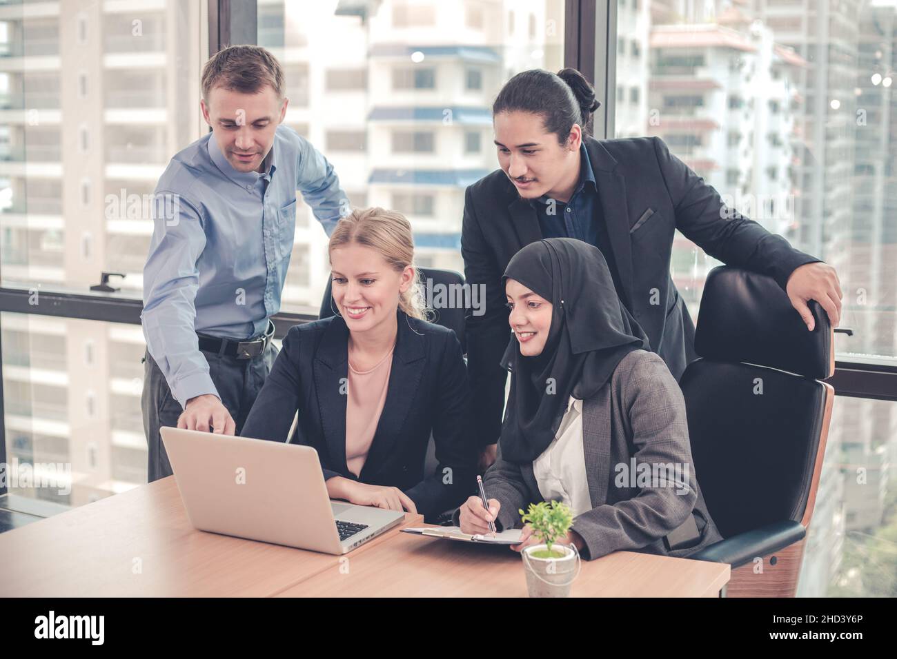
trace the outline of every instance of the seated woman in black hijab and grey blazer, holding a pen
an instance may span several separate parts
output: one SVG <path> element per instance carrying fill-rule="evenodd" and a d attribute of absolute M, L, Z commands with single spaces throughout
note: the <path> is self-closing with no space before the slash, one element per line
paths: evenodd
<path fill-rule="evenodd" d="M 597 247 L 531 243 L 502 283 L 514 332 L 498 456 L 479 497 L 456 514 L 465 533 L 519 525 L 518 508 L 558 500 L 565 541 L 585 559 L 638 550 L 688 556 L 722 540 L 695 479 L 685 403 L 664 361 L 614 289 Z M 528 527 L 522 550 L 539 542 Z"/>

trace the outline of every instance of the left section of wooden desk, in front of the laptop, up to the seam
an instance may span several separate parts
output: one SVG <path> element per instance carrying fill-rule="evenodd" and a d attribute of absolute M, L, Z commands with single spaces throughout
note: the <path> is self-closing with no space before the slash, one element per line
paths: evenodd
<path fill-rule="evenodd" d="M 196 531 L 171 476 L 0 534 L 0 597 L 264 596 L 341 558 Z"/>

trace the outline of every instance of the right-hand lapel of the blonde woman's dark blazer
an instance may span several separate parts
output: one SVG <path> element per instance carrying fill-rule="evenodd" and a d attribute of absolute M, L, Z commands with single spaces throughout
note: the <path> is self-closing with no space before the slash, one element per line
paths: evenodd
<path fill-rule="evenodd" d="M 425 339 L 417 334 L 409 323 L 414 321 L 399 311 L 396 349 L 393 351 L 392 366 L 389 370 L 387 400 L 383 403 L 377 431 L 374 433 L 368 458 L 359 475 L 361 481 L 365 481 L 367 474 L 378 473 L 380 466 L 386 462 L 396 443 L 402 438 L 405 419 L 421 384 Z M 345 451 L 345 445 L 343 450 Z"/>

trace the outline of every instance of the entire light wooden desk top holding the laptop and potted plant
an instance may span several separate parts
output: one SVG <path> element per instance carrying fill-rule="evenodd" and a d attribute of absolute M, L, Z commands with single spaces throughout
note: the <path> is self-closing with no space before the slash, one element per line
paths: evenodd
<path fill-rule="evenodd" d="M 0 597 L 527 595 L 507 547 L 398 528 L 342 557 L 204 533 L 170 477 L 0 534 Z M 571 594 L 714 597 L 728 579 L 727 565 L 618 551 L 583 562 Z"/>

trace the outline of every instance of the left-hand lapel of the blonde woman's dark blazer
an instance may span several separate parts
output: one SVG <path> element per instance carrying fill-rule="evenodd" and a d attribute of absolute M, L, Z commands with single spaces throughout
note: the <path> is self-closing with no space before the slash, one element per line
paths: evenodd
<path fill-rule="evenodd" d="M 311 367 L 318 394 L 318 413 L 327 451 L 329 468 L 348 473 L 345 464 L 345 409 L 349 385 L 349 328 L 335 316 L 318 344 Z"/>

